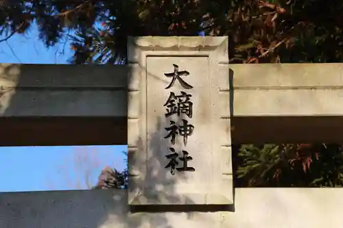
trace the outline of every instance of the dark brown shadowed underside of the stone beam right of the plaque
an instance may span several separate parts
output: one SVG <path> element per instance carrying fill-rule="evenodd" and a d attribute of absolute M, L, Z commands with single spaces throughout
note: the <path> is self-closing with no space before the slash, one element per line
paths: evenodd
<path fill-rule="evenodd" d="M 232 144 L 343 143 L 343 116 L 231 118 Z"/>

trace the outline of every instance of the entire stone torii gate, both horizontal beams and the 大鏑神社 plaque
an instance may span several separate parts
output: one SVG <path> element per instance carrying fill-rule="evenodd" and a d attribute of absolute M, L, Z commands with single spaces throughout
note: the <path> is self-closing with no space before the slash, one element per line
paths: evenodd
<path fill-rule="evenodd" d="M 340 227 L 340 189 L 234 188 L 231 145 L 342 142 L 342 68 L 230 65 L 226 37 L 130 38 L 126 66 L 2 64 L 1 146 L 128 144 L 132 177 L 0 194 L 0 227 Z"/>

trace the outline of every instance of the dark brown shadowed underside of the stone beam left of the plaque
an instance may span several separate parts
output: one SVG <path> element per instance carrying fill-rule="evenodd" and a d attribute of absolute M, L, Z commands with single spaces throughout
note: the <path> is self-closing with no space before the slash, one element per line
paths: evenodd
<path fill-rule="evenodd" d="M 127 144 L 127 118 L 1 117 L 0 147 Z"/>

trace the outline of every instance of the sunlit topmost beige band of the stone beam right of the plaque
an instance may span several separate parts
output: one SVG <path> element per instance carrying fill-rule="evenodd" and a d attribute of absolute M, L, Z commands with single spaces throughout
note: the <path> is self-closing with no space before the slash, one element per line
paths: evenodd
<path fill-rule="evenodd" d="M 343 64 L 231 64 L 235 88 L 343 88 Z"/>

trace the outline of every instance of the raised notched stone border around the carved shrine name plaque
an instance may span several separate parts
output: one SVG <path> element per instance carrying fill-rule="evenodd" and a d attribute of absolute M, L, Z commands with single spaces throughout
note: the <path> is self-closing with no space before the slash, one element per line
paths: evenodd
<path fill-rule="evenodd" d="M 220 151 L 222 170 L 220 192 L 206 194 L 194 204 L 233 204 L 233 172 L 230 137 L 230 86 L 228 68 L 228 37 L 145 36 L 128 38 L 128 165 L 129 205 L 161 205 L 145 199 L 145 177 L 147 172 L 147 56 L 208 56 L 211 86 L 217 87 L 217 102 L 213 110 L 213 145 Z M 214 147 L 213 147 L 214 148 Z M 224 185 L 224 186 L 223 186 Z"/>

